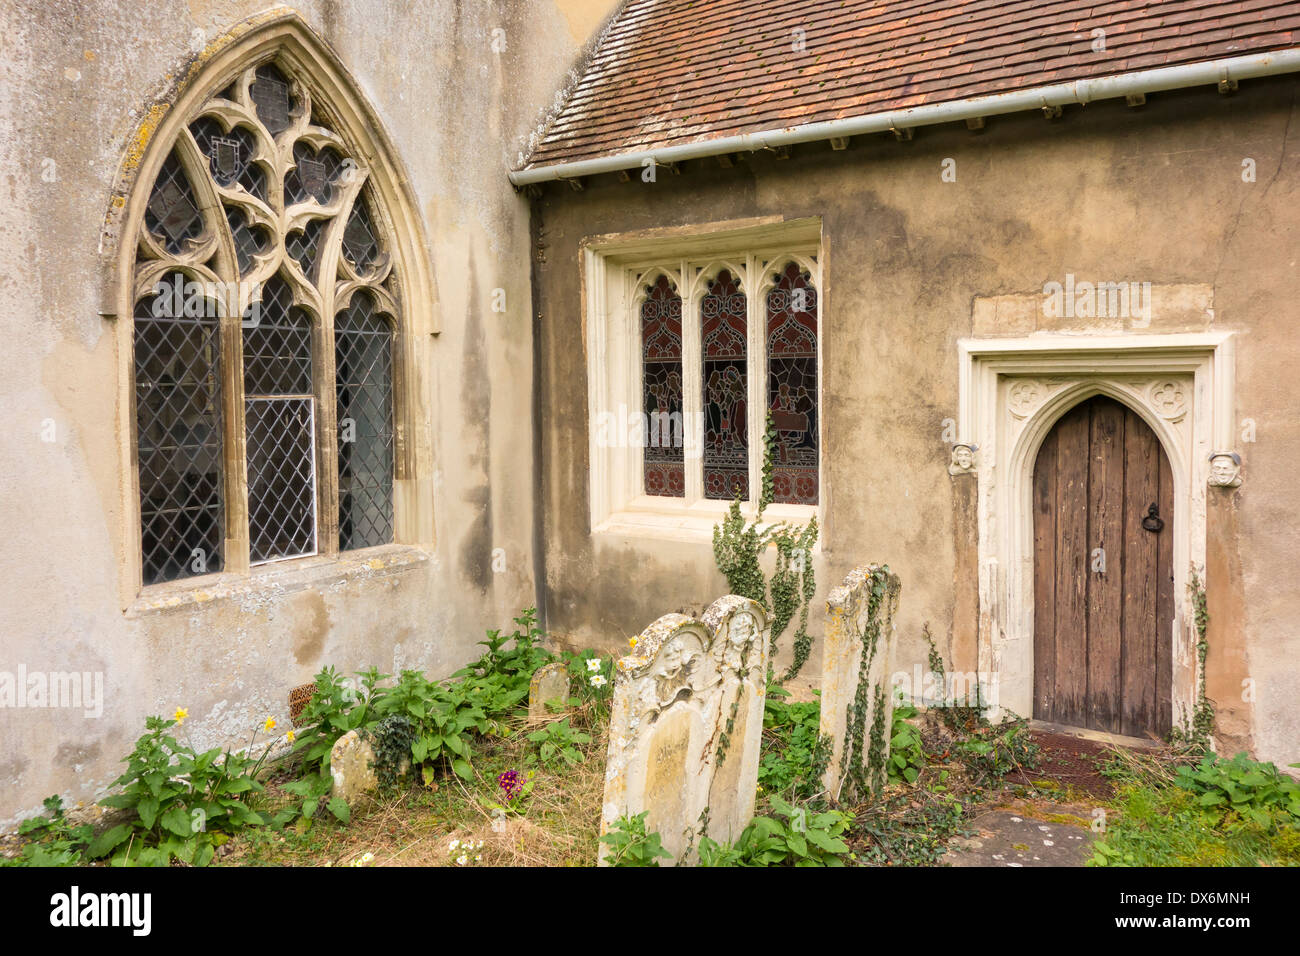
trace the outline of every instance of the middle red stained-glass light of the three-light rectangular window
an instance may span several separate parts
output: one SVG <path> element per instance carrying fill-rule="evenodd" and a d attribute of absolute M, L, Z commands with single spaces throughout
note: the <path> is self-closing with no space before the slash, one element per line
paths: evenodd
<path fill-rule="evenodd" d="M 749 498 L 748 302 L 723 269 L 699 302 L 703 334 L 705 497 Z"/>

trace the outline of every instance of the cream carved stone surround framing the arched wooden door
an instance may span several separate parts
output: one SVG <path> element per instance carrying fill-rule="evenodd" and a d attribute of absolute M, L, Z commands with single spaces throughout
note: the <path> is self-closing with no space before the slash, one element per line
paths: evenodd
<path fill-rule="evenodd" d="M 1174 475 L 1171 689 L 1174 726 L 1190 723 L 1199 675 L 1188 581 L 1193 567 L 1205 579 L 1209 454 L 1232 446 L 1234 345 L 1228 332 L 958 342 L 958 441 L 979 445 L 979 669 L 1000 676 L 1001 708 L 1034 713 L 1037 450 L 1065 412 L 1104 394 L 1150 425 Z"/>

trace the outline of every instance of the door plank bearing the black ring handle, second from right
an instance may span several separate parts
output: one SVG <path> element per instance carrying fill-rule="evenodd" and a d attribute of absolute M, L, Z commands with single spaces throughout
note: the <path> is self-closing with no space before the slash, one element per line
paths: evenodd
<path fill-rule="evenodd" d="M 1156 433 L 1135 412 L 1124 419 L 1124 606 L 1122 734 L 1148 736 L 1156 730 L 1157 553 L 1173 538 L 1170 515 L 1161 507 L 1164 531 L 1143 528 L 1150 505 L 1160 503 L 1160 459 Z"/>

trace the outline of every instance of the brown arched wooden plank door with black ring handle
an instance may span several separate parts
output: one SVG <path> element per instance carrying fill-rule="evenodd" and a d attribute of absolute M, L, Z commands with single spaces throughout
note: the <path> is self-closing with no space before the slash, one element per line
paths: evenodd
<path fill-rule="evenodd" d="M 1080 402 L 1034 464 L 1035 718 L 1169 734 L 1173 555 L 1174 479 L 1154 432 L 1110 398 Z"/>

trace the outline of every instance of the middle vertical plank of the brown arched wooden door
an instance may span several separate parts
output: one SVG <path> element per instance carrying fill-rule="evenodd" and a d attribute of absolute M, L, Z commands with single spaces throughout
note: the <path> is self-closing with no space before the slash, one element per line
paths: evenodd
<path fill-rule="evenodd" d="M 1088 715 L 1086 727 L 1121 732 L 1124 407 L 1095 398 L 1088 442 Z"/>

